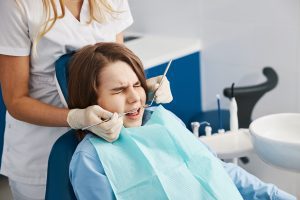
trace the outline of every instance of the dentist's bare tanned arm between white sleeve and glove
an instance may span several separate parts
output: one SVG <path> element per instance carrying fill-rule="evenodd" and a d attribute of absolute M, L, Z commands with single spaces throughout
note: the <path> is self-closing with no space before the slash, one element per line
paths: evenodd
<path fill-rule="evenodd" d="M 29 96 L 29 56 L 0 55 L 0 81 L 6 108 L 14 118 L 41 126 L 68 126 L 68 109 Z"/>

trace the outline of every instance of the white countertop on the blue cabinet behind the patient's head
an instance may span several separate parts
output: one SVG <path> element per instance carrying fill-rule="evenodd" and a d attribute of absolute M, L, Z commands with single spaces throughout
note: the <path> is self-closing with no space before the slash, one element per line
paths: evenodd
<path fill-rule="evenodd" d="M 174 38 L 167 36 L 144 35 L 138 39 L 126 42 L 144 64 L 144 68 L 166 63 L 188 54 L 200 51 L 200 40 L 188 38 Z"/>

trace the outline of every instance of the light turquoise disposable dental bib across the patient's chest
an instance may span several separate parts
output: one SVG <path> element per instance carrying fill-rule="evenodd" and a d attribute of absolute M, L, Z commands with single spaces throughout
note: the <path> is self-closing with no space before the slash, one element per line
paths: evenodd
<path fill-rule="evenodd" d="M 117 199 L 242 199 L 220 161 L 162 106 L 114 143 L 90 141 Z"/>

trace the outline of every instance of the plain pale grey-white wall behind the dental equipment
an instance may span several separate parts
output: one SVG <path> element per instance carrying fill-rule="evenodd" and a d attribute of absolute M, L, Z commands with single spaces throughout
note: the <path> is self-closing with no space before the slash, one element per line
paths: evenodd
<path fill-rule="evenodd" d="M 259 101 L 253 117 L 299 112 L 299 3 L 130 0 L 135 18 L 130 31 L 201 40 L 204 109 L 215 108 L 215 95 L 233 81 L 237 85 L 264 81 L 262 67 L 272 66 L 279 74 L 279 85 Z"/>

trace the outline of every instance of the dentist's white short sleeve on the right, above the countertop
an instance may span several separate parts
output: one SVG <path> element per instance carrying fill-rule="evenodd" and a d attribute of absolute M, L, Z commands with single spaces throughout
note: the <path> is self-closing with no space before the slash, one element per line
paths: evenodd
<path fill-rule="evenodd" d="M 128 0 L 112 0 L 112 7 L 117 12 L 116 18 L 113 20 L 115 33 L 121 33 L 133 23 Z"/>

